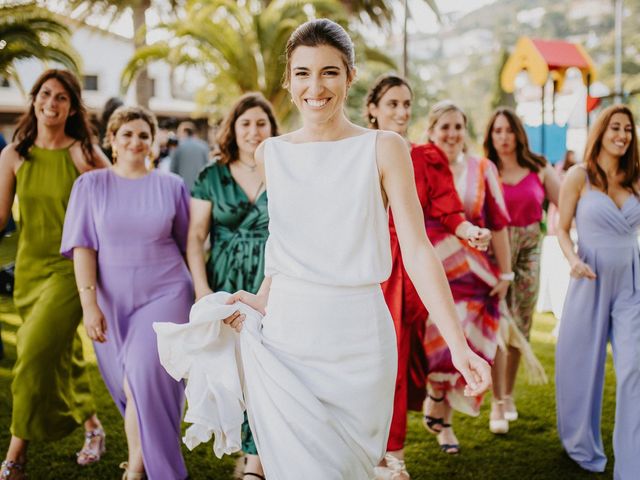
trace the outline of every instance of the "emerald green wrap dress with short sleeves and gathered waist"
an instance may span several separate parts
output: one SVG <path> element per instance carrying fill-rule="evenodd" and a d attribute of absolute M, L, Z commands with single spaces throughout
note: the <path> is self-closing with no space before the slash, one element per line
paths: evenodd
<path fill-rule="evenodd" d="M 256 293 L 264 279 L 264 246 L 269 235 L 267 193 L 251 203 L 231 176 L 228 165 L 214 163 L 200 171 L 191 196 L 212 203 L 211 255 L 207 261 L 213 291 Z M 242 450 L 257 454 L 246 420 Z"/>

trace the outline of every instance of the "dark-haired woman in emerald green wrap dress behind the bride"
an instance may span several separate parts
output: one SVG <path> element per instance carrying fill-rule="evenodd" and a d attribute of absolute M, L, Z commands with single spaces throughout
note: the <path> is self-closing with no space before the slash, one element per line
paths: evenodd
<path fill-rule="evenodd" d="M 212 291 L 256 293 L 260 288 L 269 217 L 253 154 L 263 140 L 276 135 L 271 105 L 258 93 L 242 96 L 221 126 L 221 155 L 202 169 L 191 190 L 187 262 L 197 300 Z M 205 252 L 208 235 L 211 251 Z M 264 478 L 246 418 L 242 435 L 244 476 Z"/>

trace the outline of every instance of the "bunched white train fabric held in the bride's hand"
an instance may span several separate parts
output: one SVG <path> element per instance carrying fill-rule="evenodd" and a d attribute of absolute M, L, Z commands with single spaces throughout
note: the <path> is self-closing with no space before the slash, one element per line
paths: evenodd
<path fill-rule="evenodd" d="M 240 311 L 246 315 L 241 334 L 257 334 L 262 315 L 216 292 L 201 298 L 189 313 L 189 323 L 156 322 L 160 363 L 176 380 L 186 380 L 187 412 L 184 443 L 192 450 L 214 436 L 213 451 L 220 458 L 241 448 L 244 420 L 243 374 L 239 335 L 222 320 Z"/>

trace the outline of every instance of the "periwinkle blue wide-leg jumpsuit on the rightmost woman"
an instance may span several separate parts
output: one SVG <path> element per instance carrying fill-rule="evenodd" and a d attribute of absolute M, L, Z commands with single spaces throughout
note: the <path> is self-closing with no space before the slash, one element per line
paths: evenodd
<path fill-rule="evenodd" d="M 640 476 L 640 201 L 621 208 L 590 187 L 576 210 L 578 254 L 595 280 L 572 278 L 556 350 L 558 433 L 568 455 L 602 472 L 600 420 L 607 341 L 616 370 L 614 478 Z"/>

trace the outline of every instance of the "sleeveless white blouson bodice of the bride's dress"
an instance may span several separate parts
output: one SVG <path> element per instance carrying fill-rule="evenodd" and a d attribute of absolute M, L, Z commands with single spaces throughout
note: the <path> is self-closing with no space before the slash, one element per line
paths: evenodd
<path fill-rule="evenodd" d="M 300 144 L 266 140 L 267 276 L 333 286 L 371 285 L 388 278 L 388 217 L 375 136 L 373 131 Z"/>

